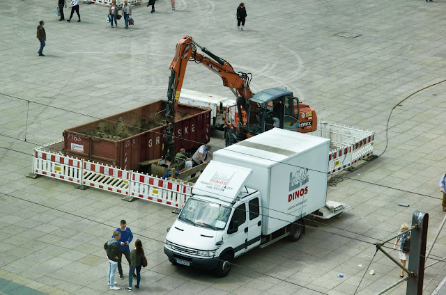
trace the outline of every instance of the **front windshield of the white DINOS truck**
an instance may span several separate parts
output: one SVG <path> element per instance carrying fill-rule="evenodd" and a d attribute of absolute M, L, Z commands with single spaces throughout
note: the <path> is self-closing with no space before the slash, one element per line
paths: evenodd
<path fill-rule="evenodd" d="M 194 223 L 195 226 L 224 230 L 231 215 L 231 208 L 222 205 L 189 198 L 181 210 L 178 219 L 185 223 Z"/>

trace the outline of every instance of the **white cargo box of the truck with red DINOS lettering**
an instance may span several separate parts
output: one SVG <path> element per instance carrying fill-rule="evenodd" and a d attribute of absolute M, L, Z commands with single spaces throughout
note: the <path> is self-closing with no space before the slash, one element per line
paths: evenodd
<path fill-rule="evenodd" d="M 246 186 L 261 193 L 262 234 L 324 207 L 330 141 L 275 128 L 223 150 L 215 161 L 251 168 Z M 269 218 L 268 218 L 269 216 Z"/>

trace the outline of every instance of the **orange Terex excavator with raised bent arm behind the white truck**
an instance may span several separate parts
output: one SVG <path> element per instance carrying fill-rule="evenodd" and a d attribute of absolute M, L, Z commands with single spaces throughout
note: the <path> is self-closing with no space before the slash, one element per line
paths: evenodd
<path fill-rule="evenodd" d="M 197 52 L 197 47 L 204 54 Z M 191 36 L 185 35 L 178 41 L 174 60 L 170 65 L 171 75 L 166 100 L 166 129 L 164 130 L 164 160 L 175 157 L 174 127 L 175 114 L 181 87 L 189 61 L 201 63 L 222 78 L 223 86 L 236 96 L 236 105 L 222 106 L 226 146 L 255 136 L 274 127 L 298 132 L 317 129 L 316 111 L 299 102 L 289 90 L 269 88 L 252 93 L 249 82 L 252 74 L 236 72 L 230 63 L 201 47 Z"/>

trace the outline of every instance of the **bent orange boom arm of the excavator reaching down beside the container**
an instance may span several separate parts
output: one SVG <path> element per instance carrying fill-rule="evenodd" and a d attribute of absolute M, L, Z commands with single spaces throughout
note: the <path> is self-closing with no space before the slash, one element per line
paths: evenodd
<path fill-rule="evenodd" d="M 197 47 L 207 56 L 199 54 Z M 223 86 L 230 88 L 238 99 L 243 99 L 244 104 L 253 95 L 251 89 L 249 89 L 250 74 L 235 72 L 231 64 L 210 52 L 206 47 L 201 47 L 197 42 L 192 40 L 191 36 L 185 35 L 178 40 L 174 60 L 169 67 L 171 74 L 166 100 L 167 125 L 164 130 L 164 161 L 171 162 L 175 157 L 174 129 L 176 108 L 183 86 L 186 66 L 189 61 L 201 63 L 201 65 L 206 66 L 209 70 L 219 75 L 222 78 Z"/>

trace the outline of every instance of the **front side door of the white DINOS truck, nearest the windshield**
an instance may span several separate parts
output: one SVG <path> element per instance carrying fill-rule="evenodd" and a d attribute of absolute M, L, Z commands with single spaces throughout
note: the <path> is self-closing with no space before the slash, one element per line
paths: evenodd
<path fill-rule="evenodd" d="M 248 238 L 248 223 L 246 218 L 246 205 L 239 205 L 233 213 L 229 223 L 228 236 L 234 250 L 234 257 L 245 253 Z M 238 225 L 238 228 L 236 228 Z"/>

